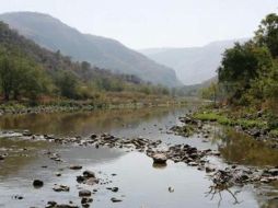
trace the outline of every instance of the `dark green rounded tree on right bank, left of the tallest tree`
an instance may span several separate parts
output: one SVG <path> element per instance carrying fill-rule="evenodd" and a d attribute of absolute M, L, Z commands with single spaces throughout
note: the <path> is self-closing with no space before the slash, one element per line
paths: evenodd
<path fill-rule="evenodd" d="M 267 47 L 258 47 L 254 42 L 243 45 L 236 43 L 223 55 L 218 69 L 219 82 L 227 91 L 229 100 L 240 101 L 252 89 L 254 80 L 269 74 L 271 66 L 273 59 Z"/>

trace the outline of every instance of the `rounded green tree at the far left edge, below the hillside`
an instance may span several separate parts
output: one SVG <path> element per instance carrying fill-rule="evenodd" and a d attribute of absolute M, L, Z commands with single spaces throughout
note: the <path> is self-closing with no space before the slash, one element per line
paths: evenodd
<path fill-rule="evenodd" d="M 0 56 L 0 83 L 4 100 L 23 95 L 35 100 L 51 85 L 44 70 L 22 55 Z"/>

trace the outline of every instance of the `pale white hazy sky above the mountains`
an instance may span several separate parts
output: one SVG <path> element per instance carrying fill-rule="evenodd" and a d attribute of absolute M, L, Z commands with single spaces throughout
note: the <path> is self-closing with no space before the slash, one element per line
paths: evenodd
<path fill-rule="evenodd" d="M 0 13 L 35 11 L 134 49 L 251 37 L 278 0 L 0 0 Z"/>

